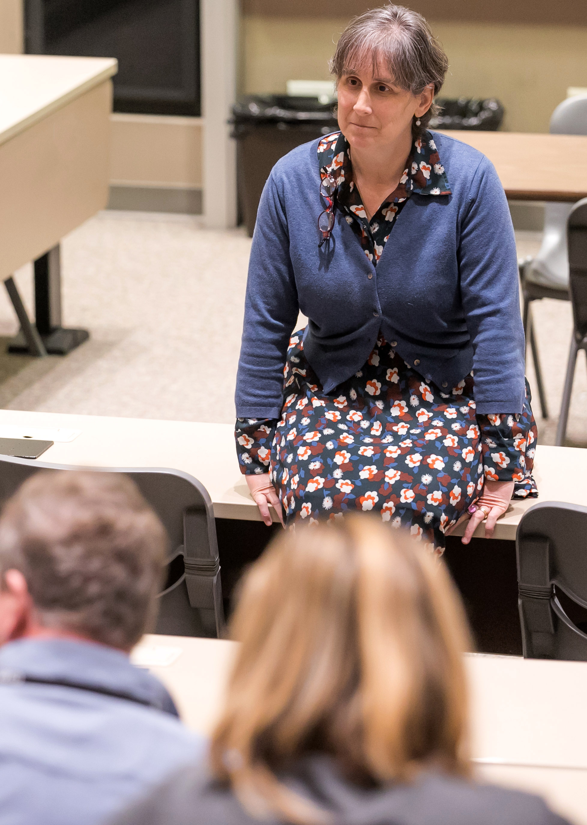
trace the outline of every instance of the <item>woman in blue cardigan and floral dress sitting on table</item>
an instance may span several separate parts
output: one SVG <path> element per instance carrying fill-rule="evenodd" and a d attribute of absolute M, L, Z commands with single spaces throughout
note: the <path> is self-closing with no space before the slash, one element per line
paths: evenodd
<path fill-rule="evenodd" d="M 460 517 L 467 542 L 537 495 L 505 193 L 484 155 L 426 130 L 447 65 L 416 12 L 356 17 L 332 60 L 340 131 L 264 188 L 235 436 L 267 524 L 268 505 L 288 524 L 379 511 L 442 549 Z"/>

